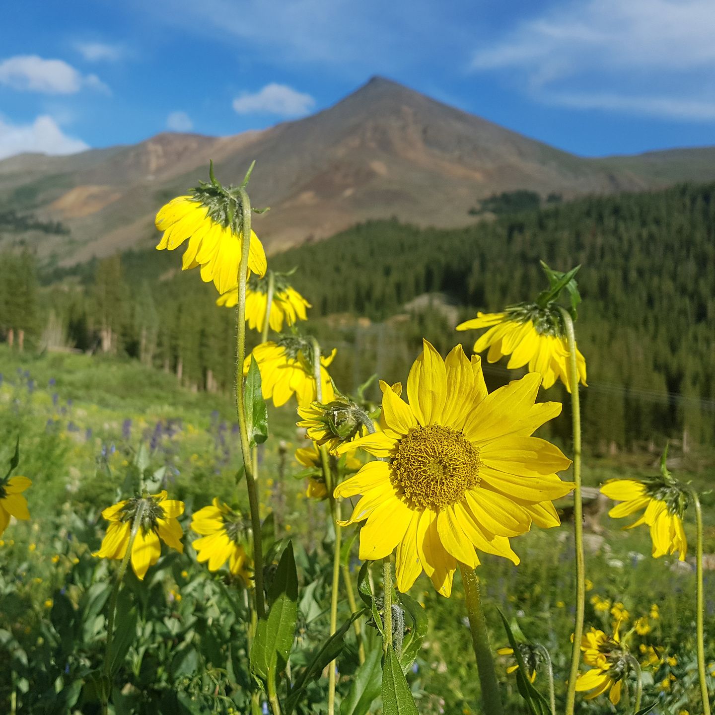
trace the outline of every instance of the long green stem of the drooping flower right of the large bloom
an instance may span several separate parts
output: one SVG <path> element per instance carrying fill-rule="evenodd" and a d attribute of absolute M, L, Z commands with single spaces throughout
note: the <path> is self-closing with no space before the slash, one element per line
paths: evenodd
<path fill-rule="evenodd" d="M 569 382 L 571 383 L 571 419 L 573 425 L 573 531 L 576 537 L 576 621 L 573 624 L 573 648 L 571 649 L 571 672 L 568 675 L 566 692 L 566 715 L 573 715 L 576 701 L 576 678 L 581 660 L 581 635 L 583 633 L 583 607 L 586 601 L 586 566 L 583 558 L 583 503 L 581 501 L 581 403 L 578 400 L 578 366 L 576 365 L 576 332 L 571 314 L 562 305 L 558 306 L 566 327 L 568 340 Z"/>

